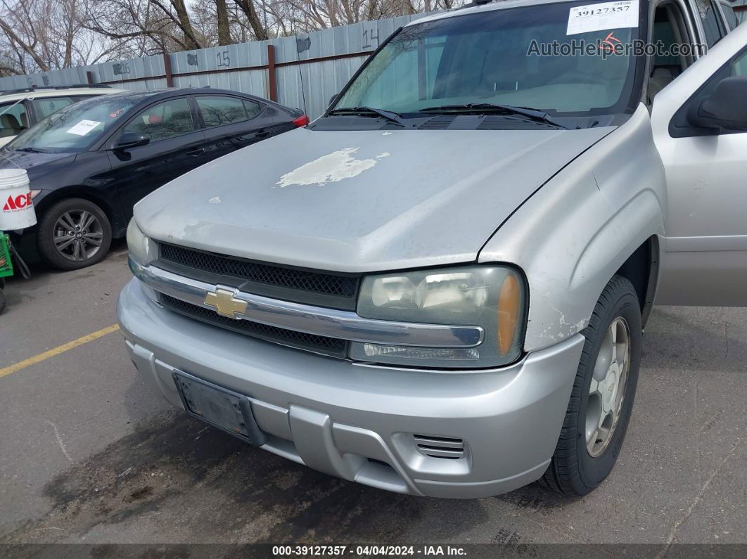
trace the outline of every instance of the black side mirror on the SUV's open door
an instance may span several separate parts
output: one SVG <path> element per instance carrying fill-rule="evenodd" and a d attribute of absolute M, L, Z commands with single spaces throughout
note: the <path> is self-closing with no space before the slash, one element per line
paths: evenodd
<path fill-rule="evenodd" d="M 698 128 L 747 131 L 747 76 L 724 78 L 700 104 L 687 111 L 687 120 Z"/>

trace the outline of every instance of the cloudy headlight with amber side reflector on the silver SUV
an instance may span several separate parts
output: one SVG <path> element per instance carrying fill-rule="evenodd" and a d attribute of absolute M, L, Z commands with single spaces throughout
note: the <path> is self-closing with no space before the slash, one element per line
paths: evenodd
<path fill-rule="evenodd" d="M 429 348 L 351 343 L 350 357 L 430 367 L 486 367 L 521 354 L 527 307 L 524 278 L 508 266 L 470 266 L 364 278 L 358 314 L 365 318 L 481 326 L 471 348 Z"/>

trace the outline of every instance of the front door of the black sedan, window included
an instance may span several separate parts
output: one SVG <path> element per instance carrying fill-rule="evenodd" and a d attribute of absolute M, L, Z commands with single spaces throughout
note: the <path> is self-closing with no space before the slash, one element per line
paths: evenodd
<path fill-rule="evenodd" d="M 143 196 L 199 166 L 205 152 L 205 134 L 196 129 L 187 97 L 140 111 L 114 134 L 113 141 L 116 143 L 124 132 L 150 137 L 145 146 L 108 152 L 112 182 L 129 219 L 132 207 Z"/>

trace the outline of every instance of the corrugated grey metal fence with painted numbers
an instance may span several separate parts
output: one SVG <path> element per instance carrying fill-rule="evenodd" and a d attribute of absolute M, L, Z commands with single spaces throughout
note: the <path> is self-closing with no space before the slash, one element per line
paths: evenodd
<path fill-rule="evenodd" d="M 326 108 L 371 52 L 397 28 L 424 14 L 344 25 L 306 35 L 175 52 L 0 78 L 0 90 L 109 84 L 129 90 L 220 87 L 303 107 Z M 302 92 L 303 83 L 303 92 Z"/>

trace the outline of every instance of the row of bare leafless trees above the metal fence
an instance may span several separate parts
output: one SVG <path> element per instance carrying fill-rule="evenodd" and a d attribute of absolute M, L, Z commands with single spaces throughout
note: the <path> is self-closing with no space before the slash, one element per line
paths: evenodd
<path fill-rule="evenodd" d="M 305 34 L 466 0 L 0 0 L 0 75 Z"/>

